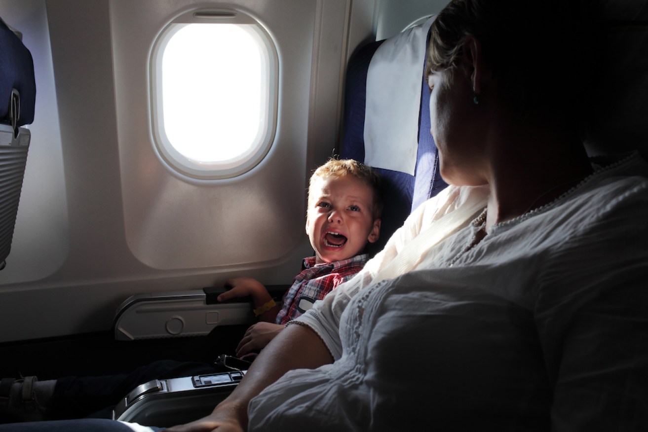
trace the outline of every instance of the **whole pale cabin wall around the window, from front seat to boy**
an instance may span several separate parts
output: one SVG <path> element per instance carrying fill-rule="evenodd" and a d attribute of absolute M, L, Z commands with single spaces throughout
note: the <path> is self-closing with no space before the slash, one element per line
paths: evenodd
<path fill-rule="evenodd" d="M 198 4 L 257 17 L 280 58 L 273 148 L 217 185 L 170 174 L 150 141 L 150 44 L 165 19 Z M 351 0 L 0 0 L 37 69 L 25 186 L 0 272 L 0 343 L 110 330 L 135 293 L 237 275 L 288 284 L 312 253 L 307 179 L 336 146 L 351 10 Z"/>

